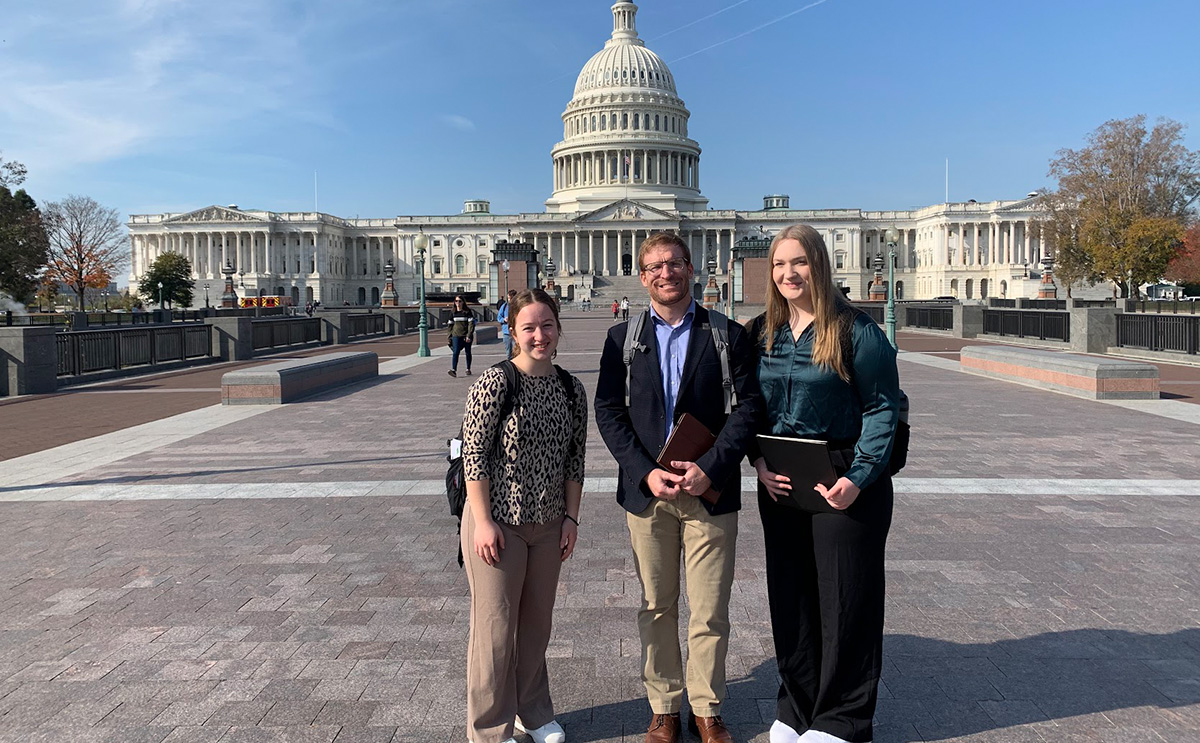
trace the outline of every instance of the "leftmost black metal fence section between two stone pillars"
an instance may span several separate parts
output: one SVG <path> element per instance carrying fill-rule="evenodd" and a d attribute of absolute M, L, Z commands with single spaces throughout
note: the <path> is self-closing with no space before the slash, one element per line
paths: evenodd
<path fill-rule="evenodd" d="M 67 330 L 58 334 L 54 341 L 59 354 L 59 377 L 212 355 L 212 328 L 202 323 Z"/>

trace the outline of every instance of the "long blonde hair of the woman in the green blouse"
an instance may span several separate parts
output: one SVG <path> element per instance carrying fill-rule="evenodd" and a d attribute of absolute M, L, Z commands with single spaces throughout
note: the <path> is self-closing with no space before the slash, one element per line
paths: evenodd
<path fill-rule="evenodd" d="M 812 342 L 812 362 L 832 368 L 845 382 L 850 382 L 850 370 L 842 349 L 842 323 L 853 322 L 850 314 L 850 302 L 833 283 L 833 269 L 829 265 L 829 252 L 821 233 L 808 224 L 788 224 L 770 241 L 767 253 L 767 270 L 774 274 L 775 250 L 784 240 L 796 240 L 804 250 L 809 262 L 809 290 L 812 293 L 812 330 L 816 340 Z M 767 322 L 763 323 L 763 338 L 767 350 L 775 342 L 775 332 L 784 325 L 791 325 L 791 306 L 775 286 L 774 276 L 767 281 Z"/>

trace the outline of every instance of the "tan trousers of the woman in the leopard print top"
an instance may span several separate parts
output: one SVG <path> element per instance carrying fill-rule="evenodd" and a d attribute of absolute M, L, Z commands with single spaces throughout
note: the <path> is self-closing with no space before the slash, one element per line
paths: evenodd
<path fill-rule="evenodd" d="M 470 586 L 467 641 L 467 739 L 500 743 L 520 715 L 526 727 L 554 719 L 546 673 L 546 646 L 562 552 L 563 520 L 499 525 L 500 562 L 488 565 L 472 544 L 470 505 L 462 515 L 462 556 Z"/>

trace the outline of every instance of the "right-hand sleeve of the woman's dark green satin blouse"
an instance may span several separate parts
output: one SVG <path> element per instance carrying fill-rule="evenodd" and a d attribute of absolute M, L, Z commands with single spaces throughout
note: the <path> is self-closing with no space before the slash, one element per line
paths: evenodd
<path fill-rule="evenodd" d="M 900 373 L 896 352 L 883 330 L 858 316 L 851 331 L 854 346 L 854 391 L 863 407 L 863 430 L 846 478 L 858 487 L 874 483 L 888 467 L 892 439 L 900 420 Z"/>

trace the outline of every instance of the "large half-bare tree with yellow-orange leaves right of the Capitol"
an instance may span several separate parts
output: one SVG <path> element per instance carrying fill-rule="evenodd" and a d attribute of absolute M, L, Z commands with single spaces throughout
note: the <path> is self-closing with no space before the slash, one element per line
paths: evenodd
<path fill-rule="evenodd" d="M 1058 181 L 1044 199 L 1055 271 L 1111 281 L 1129 296 L 1166 270 L 1200 197 L 1200 152 L 1183 145 L 1178 121 L 1147 130 L 1138 115 L 1103 124 L 1082 149 L 1060 150 L 1050 175 Z"/>

